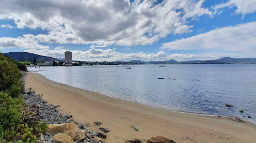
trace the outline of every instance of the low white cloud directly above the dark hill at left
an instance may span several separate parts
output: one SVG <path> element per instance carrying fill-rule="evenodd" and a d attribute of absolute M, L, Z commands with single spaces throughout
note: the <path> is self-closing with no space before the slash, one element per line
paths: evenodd
<path fill-rule="evenodd" d="M 24 35 L 24 37 L 18 37 L 18 38 L 10 38 L 10 37 L 2 37 L 0 38 L 0 49 L 5 48 L 25 48 L 25 49 L 45 49 L 49 48 L 49 46 L 43 46 L 40 45 L 38 42 L 36 42 L 31 35 Z"/>

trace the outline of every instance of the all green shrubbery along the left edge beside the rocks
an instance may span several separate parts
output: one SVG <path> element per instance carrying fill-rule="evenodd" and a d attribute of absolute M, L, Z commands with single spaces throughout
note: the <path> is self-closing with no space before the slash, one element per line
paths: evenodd
<path fill-rule="evenodd" d="M 19 97 L 22 77 L 18 68 L 25 64 L 0 53 L 0 142 L 35 142 L 48 127 Z"/>

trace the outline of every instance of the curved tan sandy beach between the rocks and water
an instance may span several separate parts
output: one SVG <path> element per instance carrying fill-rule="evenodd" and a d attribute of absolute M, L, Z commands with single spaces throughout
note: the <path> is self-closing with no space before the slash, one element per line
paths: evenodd
<path fill-rule="evenodd" d="M 56 83 L 35 73 L 28 73 L 25 87 L 43 94 L 49 103 L 60 105 L 62 112 L 72 114 L 78 122 L 90 123 L 94 131 L 99 127 L 110 129 L 105 140 L 111 143 L 158 135 L 175 142 L 187 137 L 197 142 L 256 142 L 256 125 L 233 117 L 167 111 Z M 103 124 L 97 126 L 92 120 Z M 139 131 L 131 128 L 134 124 Z"/>

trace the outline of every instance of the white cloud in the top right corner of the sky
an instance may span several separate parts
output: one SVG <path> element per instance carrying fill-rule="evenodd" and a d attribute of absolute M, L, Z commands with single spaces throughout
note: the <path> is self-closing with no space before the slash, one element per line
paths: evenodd
<path fill-rule="evenodd" d="M 226 3 L 221 3 L 216 5 L 214 8 L 215 10 L 223 9 L 223 8 L 232 8 L 237 7 L 236 14 L 244 15 L 248 13 L 255 13 L 256 11 L 256 0 L 230 0 Z M 222 11 L 220 12 L 222 13 Z"/>

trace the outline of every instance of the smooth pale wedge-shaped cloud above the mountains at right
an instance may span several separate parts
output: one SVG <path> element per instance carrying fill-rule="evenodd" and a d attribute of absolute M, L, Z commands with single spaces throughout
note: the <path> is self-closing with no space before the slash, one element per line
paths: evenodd
<path fill-rule="evenodd" d="M 219 50 L 256 52 L 256 22 L 222 27 L 204 34 L 163 43 L 161 50 Z"/>

